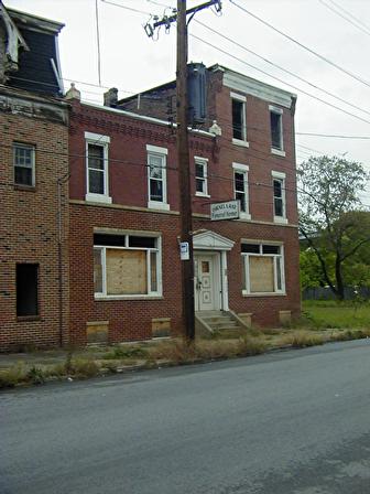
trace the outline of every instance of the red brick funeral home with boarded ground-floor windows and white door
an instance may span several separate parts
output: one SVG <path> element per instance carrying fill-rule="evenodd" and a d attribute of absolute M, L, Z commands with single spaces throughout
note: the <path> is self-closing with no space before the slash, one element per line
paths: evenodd
<path fill-rule="evenodd" d="M 221 66 L 206 71 L 206 121 L 189 132 L 195 308 L 241 323 L 300 312 L 295 96 Z M 105 107 L 73 88 L 70 341 L 181 331 L 175 84 Z M 170 121 L 170 124 L 168 124 Z M 240 217 L 210 221 L 239 200 Z"/>

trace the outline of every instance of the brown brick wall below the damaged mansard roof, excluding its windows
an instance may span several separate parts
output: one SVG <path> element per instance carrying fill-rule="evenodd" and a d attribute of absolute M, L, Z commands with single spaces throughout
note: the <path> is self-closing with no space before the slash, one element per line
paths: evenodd
<path fill-rule="evenodd" d="M 18 100 L 18 105 L 19 105 Z M 68 172 L 67 126 L 40 118 L 41 104 L 34 103 L 39 117 L 0 112 L 1 215 L 0 215 L 0 351 L 22 346 L 59 344 L 59 272 L 57 179 Z M 50 110 L 52 115 L 53 111 Z M 61 108 L 58 111 L 63 112 Z M 58 114 L 61 116 L 61 114 Z M 59 118 L 59 117 L 58 117 Z M 36 148 L 36 179 L 33 190 L 18 190 L 13 183 L 12 144 Z M 63 234 L 63 337 L 68 325 L 68 201 L 67 184 L 62 187 Z M 17 318 L 15 265 L 39 264 L 40 318 Z"/>

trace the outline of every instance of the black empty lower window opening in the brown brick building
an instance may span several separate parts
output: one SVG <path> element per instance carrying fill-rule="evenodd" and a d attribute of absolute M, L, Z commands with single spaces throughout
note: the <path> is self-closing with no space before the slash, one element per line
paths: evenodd
<path fill-rule="evenodd" d="M 39 314 L 39 265 L 17 265 L 17 315 Z"/>

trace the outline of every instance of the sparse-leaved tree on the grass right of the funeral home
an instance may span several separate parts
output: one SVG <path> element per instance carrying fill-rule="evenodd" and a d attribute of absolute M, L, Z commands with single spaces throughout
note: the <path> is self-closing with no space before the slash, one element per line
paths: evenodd
<path fill-rule="evenodd" d="M 298 169 L 300 233 L 338 300 L 345 294 L 345 265 L 370 241 L 367 213 L 359 211 L 367 179 L 361 163 L 344 157 L 312 157 Z"/>

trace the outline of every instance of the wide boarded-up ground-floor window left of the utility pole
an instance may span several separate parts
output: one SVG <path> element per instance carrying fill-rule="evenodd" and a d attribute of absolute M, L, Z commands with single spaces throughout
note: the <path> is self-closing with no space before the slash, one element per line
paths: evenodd
<path fill-rule="evenodd" d="M 161 237 L 95 234 L 94 291 L 96 298 L 161 296 Z"/>

